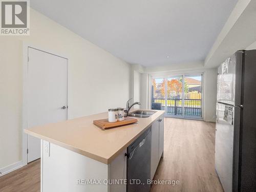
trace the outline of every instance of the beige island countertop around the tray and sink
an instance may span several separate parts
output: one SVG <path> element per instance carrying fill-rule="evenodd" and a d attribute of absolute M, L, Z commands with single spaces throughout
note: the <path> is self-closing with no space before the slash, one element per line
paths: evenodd
<path fill-rule="evenodd" d="M 108 112 L 105 112 L 35 126 L 24 130 L 24 132 L 102 163 L 109 164 L 120 152 L 138 138 L 148 125 L 164 114 L 164 111 L 150 111 L 156 111 L 156 113 L 147 118 L 136 118 L 139 120 L 138 123 L 114 127 L 108 130 L 102 130 L 93 124 L 93 120 L 108 118 Z"/>

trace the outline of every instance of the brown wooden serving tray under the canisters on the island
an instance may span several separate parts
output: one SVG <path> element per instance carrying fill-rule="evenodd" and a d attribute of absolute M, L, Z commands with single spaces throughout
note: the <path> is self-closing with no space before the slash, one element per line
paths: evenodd
<path fill-rule="evenodd" d="M 99 126 L 102 129 L 109 129 L 116 126 L 122 126 L 127 125 L 131 123 L 137 123 L 137 119 L 125 117 L 123 121 L 117 121 L 117 122 L 109 122 L 109 119 L 99 119 L 99 120 L 93 120 L 93 124 Z"/>

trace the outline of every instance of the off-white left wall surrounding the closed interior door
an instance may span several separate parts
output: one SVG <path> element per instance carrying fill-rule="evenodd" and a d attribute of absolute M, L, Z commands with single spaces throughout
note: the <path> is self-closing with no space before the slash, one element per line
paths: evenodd
<path fill-rule="evenodd" d="M 22 160 L 23 42 L 69 58 L 69 118 L 125 106 L 131 66 L 31 9 L 30 36 L 0 37 L 0 170 Z"/>

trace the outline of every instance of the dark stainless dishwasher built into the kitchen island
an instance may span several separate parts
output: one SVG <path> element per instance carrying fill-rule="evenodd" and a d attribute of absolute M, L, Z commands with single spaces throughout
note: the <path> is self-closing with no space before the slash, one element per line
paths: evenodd
<path fill-rule="evenodd" d="M 149 192 L 151 126 L 127 147 L 127 192 Z"/>

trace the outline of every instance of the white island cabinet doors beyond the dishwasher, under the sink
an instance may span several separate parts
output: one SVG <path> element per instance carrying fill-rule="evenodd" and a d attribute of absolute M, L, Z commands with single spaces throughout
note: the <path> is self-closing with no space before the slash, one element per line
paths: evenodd
<path fill-rule="evenodd" d="M 163 154 L 163 115 L 152 123 L 151 138 L 151 180 L 153 179 L 159 160 Z"/>

